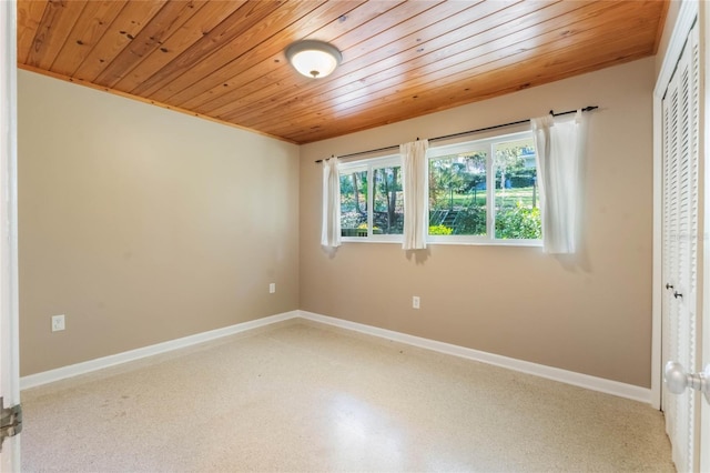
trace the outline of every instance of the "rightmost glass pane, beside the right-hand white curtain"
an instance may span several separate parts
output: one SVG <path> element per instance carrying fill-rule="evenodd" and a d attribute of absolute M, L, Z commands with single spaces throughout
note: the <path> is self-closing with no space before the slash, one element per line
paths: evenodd
<path fill-rule="evenodd" d="M 539 189 L 532 139 L 494 145 L 496 238 L 539 240 Z"/>

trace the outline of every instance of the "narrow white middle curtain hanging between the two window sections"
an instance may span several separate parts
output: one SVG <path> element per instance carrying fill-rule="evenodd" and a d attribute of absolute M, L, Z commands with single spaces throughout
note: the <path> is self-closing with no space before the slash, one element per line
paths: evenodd
<path fill-rule="evenodd" d="M 422 250 L 426 248 L 426 235 L 429 232 L 427 214 L 426 150 L 428 140 L 417 140 L 399 144 L 402 157 L 402 191 L 404 193 L 404 250 Z"/>

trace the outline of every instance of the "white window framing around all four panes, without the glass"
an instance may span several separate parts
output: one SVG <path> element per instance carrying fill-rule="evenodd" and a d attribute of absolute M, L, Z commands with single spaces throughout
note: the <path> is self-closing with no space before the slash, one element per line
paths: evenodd
<path fill-rule="evenodd" d="M 459 142 L 455 144 L 445 144 L 440 147 L 432 147 L 427 150 L 427 169 L 428 161 L 449 154 L 467 153 L 483 151 L 486 153 L 486 234 L 485 235 L 430 235 L 427 234 L 427 244 L 469 244 L 469 245 L 503 245 L 503 246 L 542 246 L 542 239 L 524 240 L 524 239 L 496 239 L 496 220 L 495 220 L 495 173 L 494 167 L 494 145 L 500 142 L 519 141 L 532 139 L 531 131 L 519 131 L 515 133 L 497 134 L 479 140 Z M 372 158 L 352 162 L 341 163 L 338 174 L 349 174 L 352 172 L 367 172 L 367 185 L 373 182 L 373 170 L 379 168 L 402 167 L 402 158 L 399 154 L 389 154 L 379 158 Z M 427 185 L 429 175 L 427 172 Z M 428 208 L 428 202 L 427 202 Z M 402 243 L 400 234 L 373 234 L 373 192 L 367 192 L 367 236 L 342 236 L 343 242 L 359 243 Z M 428 214 L 428 210 L 427 210 Z"/>

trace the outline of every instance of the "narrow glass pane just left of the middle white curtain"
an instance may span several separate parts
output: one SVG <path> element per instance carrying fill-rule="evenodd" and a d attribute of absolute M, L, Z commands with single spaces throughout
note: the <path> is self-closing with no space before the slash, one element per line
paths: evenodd
<path fill-rule="evenodd" d="M 402 168 L 397 165 L 373 169 L 373 234 L 402 234 Z"/>

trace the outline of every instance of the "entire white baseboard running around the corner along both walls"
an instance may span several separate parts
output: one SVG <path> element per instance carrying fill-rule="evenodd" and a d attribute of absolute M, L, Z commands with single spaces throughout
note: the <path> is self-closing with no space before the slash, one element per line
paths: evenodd
<path fill-rule="evenodd" d="M 114 355 L 103 356 L 69 366 L 62 366 L 55 370 L 44 371 L 42 373 L 30 374 L 20 379 L 20 389 L 26 390 L 29 388 L 36 388 L 42 384 L 52 383 L 54 381 L 78 376 L 80 374 L 90 373 L 92 371 L 102 370 L 104 368 L 115 366 L 118 364 L 128 363 L 130 361 L 144 359 L 146 356 L 165 353 L 173 350 L 179 350 L 182 348 L 195 345 L 197 343 L 209 342 L 211 340 L 221 339 L 223 336 L 233 335 L 235 333 L 295 318 L 302 318 L 346 330 L 353 330 L 355 332 L 379 336 L 382 339 L 393 340 L 395 342 L 406 343 L 427 350 L 434 350 L 436 352 L 460 356 L 481 363 L 488 363 L 508 370 L 519 371 L 523 373 L 546 378 L 548 380 L 572 384 L 592 391 L 613 394 L 620 397 L 627 397 L 649 404 L 651 403 L 651 390 L 647 388 L 639 388 L 631 384 L 620 383 L 618 381 L 605 380 L 602 378 L 590 376 L 588 374 L 576 373 L 572 371 L 560 370 L 558 368 L 551 368 L 542 364 L 531 363 L 528 361 L 501 356 L 494 353 L 481 352 L 478 350 L 453 345 L 450 343 L 437 342 L 435 340 L 423 339 L 420 336 L 408 335 L 406 333 L 394 332 L 392 330 L 379 329 L 372 325 L 335 319 L 332 316 L 321 315 L 307 311 L 284 312 L 282 314 L 237 323 L 235 325 L 225 326 L 223 329 L 211 330 L 209 332 L 202 332 L 194 335 L 184 336 L 182 339 L 158 343 L 155 345 L 144 346 L 123 353 L 116 353 Z"/>

